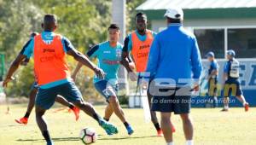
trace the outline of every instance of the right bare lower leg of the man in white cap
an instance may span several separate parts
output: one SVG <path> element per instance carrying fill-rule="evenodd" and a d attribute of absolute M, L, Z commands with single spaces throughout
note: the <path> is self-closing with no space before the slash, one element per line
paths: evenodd
<path fill-rule="evenodd" d="M 183 132 L 188 145 L 193 144 L 193 124 L 189 118 L 189 113 L 180 114 L 181 119 L 183 120 Z"/>

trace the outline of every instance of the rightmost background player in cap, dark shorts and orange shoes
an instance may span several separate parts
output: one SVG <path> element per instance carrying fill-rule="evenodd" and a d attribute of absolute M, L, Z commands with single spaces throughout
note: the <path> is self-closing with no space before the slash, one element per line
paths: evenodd
<path fill-rule="evenodd" d="M 239 80 L 239 61 L 235 59 L 235 56 L 236 52 L 233 49 L 227 51 L 228 61 L 224 65 L 224 108 L 222 111 L 229 111 L 229 96 L 236 96 L 247 112 L 249 104 L 242 95 Z"/>

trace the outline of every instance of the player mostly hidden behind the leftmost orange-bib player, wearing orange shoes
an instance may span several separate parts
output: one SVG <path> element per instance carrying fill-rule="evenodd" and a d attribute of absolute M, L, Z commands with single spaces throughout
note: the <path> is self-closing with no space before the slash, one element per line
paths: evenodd
<path fill-rule="evenodd" d="M 32 38 L 34 38 L 37 35 L 38 35 L 38 32 L 32 32 L 32 34 L 30 36 L 31 38 L 30 38 L 30 40 L 28 42 L 32 41 Z M 20 54 L 23 54 L 27 44 L 25 44 L 23 49 L 20 50 Z M 26 66 L 27 63 L 29 62 L 29 60 L 30 59 L 28 57 L 26 57 L 24 59 L 24 61 L 21 61 L 20 65 L 21 66 Z M 15 65 L 15 63 L 13 63 L 12 65 Z M 14 66 L 12 66 L 12 67 L 14 67 Z M 29 102 L 27 104 L 26 113 L 25 113 L 24 117 L 22 117 L 20 119 L 15 119 L 15 121 L 18 124 L 24 124 L 24 125 L 27 124 L 27 121 L 28 121 L 28 118 L 30 116 L 30 113 L 32 112 L 32 109 L 33 109 L 33 107 L 35 105 L 35 98 L 37 96 L 37 93 L 38 93 L 38 84 L 34 83 L 34 84 L 32 84 L 32 90 L 31 90 L 31 92 L 29 94 Z M 57 96 L 56 99 L 55 99 L 55 102 L 59 102 L 62 105 L 69 107 L 73 111 L 73 113 L 75 114 L 76 120 L 79 119 L 79 111 L 80 110 L 79 110 L 78 107 L 73 106 L 72 103 L 67 102 L 67 100 L 65 98 L 61 97 L 61 96 Z"/>

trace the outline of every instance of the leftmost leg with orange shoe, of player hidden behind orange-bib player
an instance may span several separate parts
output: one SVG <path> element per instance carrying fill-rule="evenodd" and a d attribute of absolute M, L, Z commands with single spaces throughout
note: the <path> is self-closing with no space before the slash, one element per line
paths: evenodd
<path fill-rule="evenodd" d="M 16 121 L 17 123 L 19 123 L 19 124 L 24 124 L 24 125 L 27 124 L 27 121 L 28 121 L 28 118 L 29 118 L 29 116 L 30 116 L 30 113 L 32 112 L 32 109 L 33 109 L 33 107 L 34 107 L 34 105 L 35 105 L 35 98 L 36 98 L 36 96 L 37 96 L 37 93 L 38 93 L 38 89 L 37 89 L 37 87 L 35 87 L 34 84 L 33 84 L 32 90 L 31 90 L 31 92 L 30 92 L 30 94 L 29 94 L 29 100 L 28 100 L 28 104 L 27 104 L 27 108 L 26 108 L 26 113 L 25 113 L 25 115 L 24 115 L 23 118 L 21 118 L 21 119 L 15 119 L 15 121 Z"/>

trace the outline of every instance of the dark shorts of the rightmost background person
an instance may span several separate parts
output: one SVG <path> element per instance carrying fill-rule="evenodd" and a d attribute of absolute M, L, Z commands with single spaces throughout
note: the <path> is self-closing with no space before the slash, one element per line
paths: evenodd
<path fill-rule="evenodd" d="M 224 83 L 224 97 L 241 96 L 242 90 L 239 79 L 229 78 Z"/>

